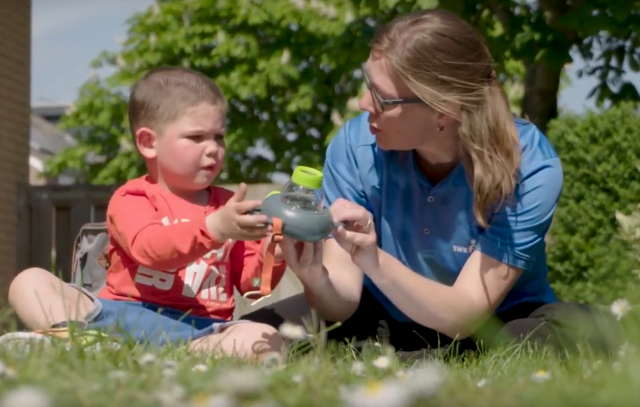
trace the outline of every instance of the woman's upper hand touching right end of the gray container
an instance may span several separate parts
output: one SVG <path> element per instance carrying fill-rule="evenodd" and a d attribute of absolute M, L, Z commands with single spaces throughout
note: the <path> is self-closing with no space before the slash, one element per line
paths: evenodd
<path fill-rule="evenodd" d="M 341 223 L 333 233 L 336 242 L 363 272 L 378 267 L 378 239 L 373 217 L 362 206 L 339 198 L 329 208 L 333 221 Z"/>

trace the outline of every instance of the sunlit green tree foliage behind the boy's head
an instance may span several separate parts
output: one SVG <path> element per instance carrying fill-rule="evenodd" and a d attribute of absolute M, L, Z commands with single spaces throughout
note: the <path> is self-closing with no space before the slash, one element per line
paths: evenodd
<path fill-rule="evenodd" d="M 201 71 L 229 99 L 223 179 L 267 181 L 272 171 L 288 172 L 300 162 L 320 165 L 324 138 L 357 92 L 352 68 L 364 59 L 372 30 L 350 2 L 334 3 L 163 1 L 134 15 L 122 51 L 95 61 L 116 72 L 89 81 L 63 119 L 65 128 L 82 129 L 81 147 L 56 157 L 51 171 L 72 166 L 99 183 L 140 171 L 129 141 L 127 89 L 159 65 Z M 106 163 L 83 159 L 87 151 Z"/>

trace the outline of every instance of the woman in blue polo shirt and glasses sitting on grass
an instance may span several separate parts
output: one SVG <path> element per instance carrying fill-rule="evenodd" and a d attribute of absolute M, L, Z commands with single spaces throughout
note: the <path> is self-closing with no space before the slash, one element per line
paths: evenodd
<path fill-rule="evenodd" d="M 538 128 L 514 119 L 481 36 L 447 11 L 403 15 L 377 33 L 363 74 L 363 114 L 324 167 L 326 203 L 351 226 L 317 244 L 283 242 L 306 302 L 343 323 L 330 337 L 382 333 L 411 352 L 606 332 L 547 281 L 562 167 Z M 245 318 L 277 325 L 296 303 Z"/>

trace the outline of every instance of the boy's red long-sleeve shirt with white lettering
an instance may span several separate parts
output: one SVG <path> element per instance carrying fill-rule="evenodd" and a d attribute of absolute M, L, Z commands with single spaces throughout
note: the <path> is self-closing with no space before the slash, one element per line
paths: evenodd
<path fill-rule="evenodd" d="M 264 241 L 217 241 L 205 217 L 233 196 L 210 187 L 206 207 L 186 202 L 143 176 L 120 187 L 109 201 L 109 270 L 100 298 L 135 300 L 190 315 L 230 320 L 234 287 L 259 290 Z M 284 262 L 273 268 L 272 287 Z"/>

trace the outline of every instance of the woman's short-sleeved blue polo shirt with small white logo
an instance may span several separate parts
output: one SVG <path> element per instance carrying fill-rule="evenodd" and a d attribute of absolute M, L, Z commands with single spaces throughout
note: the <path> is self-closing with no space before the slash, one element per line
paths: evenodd
<path fill-rule="evenodd" d="M 409 152 L 384 151 L 367 113 L 347 122 L 329 144 L 326 204 L 354 201 L 373 215 L 378 246 L 414 272 L 453 285 L 473 250 L 523 270 L 496 312 L 521 302 L 557 301 L 548 281 L 545 234 L 562 192 L 560 159 L 533 124 L 514 119 L 522 148 L 514 199 L 493 213 L 489 227 L 473 216 L 473 192 L 462 165 L 432 185 Z M 404 313 L 365 276 L 365 287 L 399 321 Z"/>

